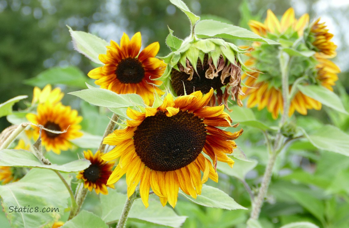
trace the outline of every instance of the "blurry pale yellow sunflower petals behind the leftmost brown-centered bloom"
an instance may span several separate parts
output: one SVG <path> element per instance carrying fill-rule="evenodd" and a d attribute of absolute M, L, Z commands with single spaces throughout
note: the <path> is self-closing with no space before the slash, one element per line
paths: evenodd
<path fill-rule="evenodd" d="M 51 85 L 46 85 L 43 90 L 40 90 L 39 87 L 34 87 L 33 100 L 31 104 L 42 104 L 46 101 L 53 104 L 58 103 L 64 97 L 64 93 L 61 92 L 60 88 L 54 88 L 52 90 Z"/>

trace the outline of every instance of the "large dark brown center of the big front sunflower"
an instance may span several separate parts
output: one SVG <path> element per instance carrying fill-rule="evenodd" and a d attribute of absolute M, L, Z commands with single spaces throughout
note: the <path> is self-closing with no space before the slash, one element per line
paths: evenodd
<path fill-rule="evenodd" d="M 168 117 L 162 111 L 148 116 L 134 133 L 134 145 L 141 161 L 152 170 L 173 171 L 192 163 L 206 141 L 203 121 L 179 111 Z"/>

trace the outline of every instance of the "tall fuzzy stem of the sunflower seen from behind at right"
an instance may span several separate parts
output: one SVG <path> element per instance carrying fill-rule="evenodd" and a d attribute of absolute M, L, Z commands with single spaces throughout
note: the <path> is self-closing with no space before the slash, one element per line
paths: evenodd
<path fill-rule="evenodd" d="M 265 172 L 263 174 L 262 183 L 258 191 L 258 195 L 255 200 L 252 202 L 252 212 L 250 219 L 257 220 L 259 217 L 259 213 L 261 211 L 264 198 L 267 194 L 268 187 L 270 184 L 270 180 L 272 178 L 274 164 L 279 155 L 280 151 L 284 148 L 285 140 L 281 132 L 281 127 L 285 124 L 288 119 L 288 113 L 290 108 L 290 91 L 289 91 L 289 66 L 291 59 L 287 53 L 280 50 L 280 68 L 281 68 L 281 77 L 282 77 L 282 98 L 283 98 L 283 113 L 281 117 L 281 121 L 279 124 L 279 131 L 276 134 L 274 145 L 272 150 L 269 152 L 269 160 L 266 166 Z M 266 139 L 268 136 L 266 135 Z M 270 150 L 270 144 L 267 141 L 268 150 Z"/>

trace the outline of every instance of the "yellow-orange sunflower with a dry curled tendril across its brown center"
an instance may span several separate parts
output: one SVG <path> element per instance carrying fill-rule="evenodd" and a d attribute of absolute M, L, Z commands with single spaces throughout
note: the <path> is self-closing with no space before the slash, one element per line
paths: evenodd
<path fill-rule="evenodd" d="M 72 147 L 70 140 L 82 136 L 79 131 L 82 117 L 78 116 L 77 111 L 72 110 L 70 106 L 46 102 L 38 105 L 37 114 L 28 113 L 26 117 L 30 122 L 42 125 L 46 129 L 66 130 L 66 132 L 59 134 L 42 130 L 41 140 L 47 151 L 52 150 L 56 154 L 60 154 L 61 150 L 68 150 Z M 35 137 L 38 138 L 39 128 L 36 126 L 32 128 L 34 128 Z"/>

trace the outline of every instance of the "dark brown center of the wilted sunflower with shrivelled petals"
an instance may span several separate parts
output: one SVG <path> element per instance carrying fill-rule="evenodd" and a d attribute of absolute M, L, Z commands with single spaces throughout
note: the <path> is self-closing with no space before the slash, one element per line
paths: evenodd
<path fill-rule="evenodd" d="M 195 91 L 201 91 L 202 93 L 208 93 L 211 89 L 211 87 L 214 90 L 217 90 L 223 86 L 221 82 L 221 72 L 218 73 L 218 77 L 215 77 L 213 79 L 209 79 L 205 77 L 206 71 L 209 69 L 209 65 L 207 63 L 208 56 L 205 55 L 203 59 L 203 65 L 201 63 L 201 60 L 198 60 L 198 63 L 196 65 L 196 69 L 198 71 L 198 74 L 194 72 L 193 79 L 188 80 L 189 74 L 185 72 L 178 71 L 176 69 L 172 69 L 171 72 L 171 85 L 176 91 L 178 96 L 184 95 L 184 87 L 187 94 L 193 93 Z M 224 84 L 228 83 L 230 80 L 230 77 L 225 78 Z"/>

